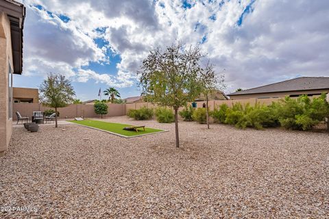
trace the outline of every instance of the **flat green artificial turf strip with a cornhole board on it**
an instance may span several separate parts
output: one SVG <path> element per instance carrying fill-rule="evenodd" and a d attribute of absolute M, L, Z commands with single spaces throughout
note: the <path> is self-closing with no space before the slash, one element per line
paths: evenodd
<path fill-rule="evenodd" d="M 98 120 L 82 120 L 82 121 L 71 120 L 70 122 L 77 123 L 80 125 L 86 125 L 88 127 L 93 127 L 93 128 L 97 128 L 97 129 L 101 129 L 101 130 L 105 130 L 105 131 L 110 131 L 110 132 L 117 133 L 117 134 L 120 134 L 122 136 L 127 136 L 127 137 L 140 136 L 140 135 L 144 135 L 144 134 L 148 134 L 148 133 L 164 131 L 161 129 L 151 129 L 151 128 L 147 128 L 147 127 L 145 127 L 145 131 L 143 130 L 143 128 L 138 128 L 138 132 L 127 131 L 127 130 L 123 130 L 123 128 L 134 126 L 134 125 L 127 125 L 127 124 L 121 124 L 121 123 L 107 123 L 107 122 L 98 121 Z"/>

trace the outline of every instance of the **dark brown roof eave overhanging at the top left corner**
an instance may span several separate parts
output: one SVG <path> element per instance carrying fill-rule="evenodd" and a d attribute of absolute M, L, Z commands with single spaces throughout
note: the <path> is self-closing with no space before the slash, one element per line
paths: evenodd
<path fill-rule="evenodd" d="M 10 35 L 12 40 L 12 62 L 14 74 L 21 75 L 23 68 L 23 27 L 25 20 L 25 6 L 17 1 L 0 1 L 0 12 L 5 12 L 10 21 Z"/>

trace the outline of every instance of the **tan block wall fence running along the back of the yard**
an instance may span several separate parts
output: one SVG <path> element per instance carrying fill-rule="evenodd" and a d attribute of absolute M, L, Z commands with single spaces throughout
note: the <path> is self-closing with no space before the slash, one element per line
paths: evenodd
<path fill-rule="evenodd" d="M 311 97 L 312 98 L 312 97 Z M 234 103 L 241 103 L 242 105 L 246 105 L 249 103 L 250 105 L 255 105 L 256 103 L 269 105 L 274 101 L 279 101 L 279 98 L 271 98 L 271 99 L 240 99 L 240 100 L 226 100 L 226 101 L 208 101 L 209 110 L 214 110 L 215 107 L 219 107 L 223 103 L 226 103 L 229 107 L 232 107 Z M 197 108 L 202 107 L 206 101 L 197 101 Z M 108 103 L 108 114 L 103 115 L 103 117 L 109 116 L 125 116 L 129 110 L 139 110 L 142 107 L 147 108 L 156 108 L 158 105 L 153 103 L 125 103 L 125 104 L 114 104 Z M 45 110 L 50 109 L 49 107 L 43 106 L 41 103 L 13 103 L 13 119 L 17 120 L 16 115 L 14 114 L 18 111 L 21 116 L 32 116 L 34 111 L 44 112 Z M 60 112 L 60 118 L 75 118 L 81 117 L 84 118 L 97 118 L 99 115 L 94 112 L 93 104 L 71 104 L 67 107 L 58 108 L 58 112 Z"/>

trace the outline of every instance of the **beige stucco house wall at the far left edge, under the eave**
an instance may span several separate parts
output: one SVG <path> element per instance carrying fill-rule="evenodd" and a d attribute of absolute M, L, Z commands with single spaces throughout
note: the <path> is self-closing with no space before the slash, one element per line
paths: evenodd
<path fill-rule="evenodd" d="M 0 156 L 7 150 L 12 135 L 12 119 L 8 116 L 9 64 L 13 66 L 10 21 L 0 12 Z"/>

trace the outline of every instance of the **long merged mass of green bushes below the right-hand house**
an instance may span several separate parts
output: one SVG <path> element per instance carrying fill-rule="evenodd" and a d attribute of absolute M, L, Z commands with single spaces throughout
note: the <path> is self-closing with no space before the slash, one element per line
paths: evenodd
<path fill-rule="evenodd" d="M 214 118 L 221 120 L 225 118 L 224 123 L 235 125 L 241 129 L 281 126 L 284 129 L 309 130 L 329 116 L 326 94 L 321 94 L 314 99 L 305 95 L 297 99 L 286 97 L 269 106 L 247 104 L 243 107 L 240 103 L 235 103 L 232 108 L 223 107 L 223 109 L 225 109 L 223 112 L 226 112 L 226 118 L 223 116 L 223 112 L 219 114 L 221 109 L 215 110 Z"/>

